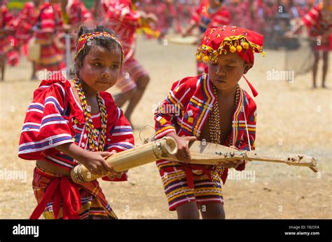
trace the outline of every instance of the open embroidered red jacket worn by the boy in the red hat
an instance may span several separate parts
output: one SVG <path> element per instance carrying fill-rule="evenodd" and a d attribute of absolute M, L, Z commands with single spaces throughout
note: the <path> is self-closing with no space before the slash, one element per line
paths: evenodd
<path fill-rule="evenodd" d="M 167 98 L 160 103 L 157 112 L 155 112 L 155 138 L 159 139 L 168 133 L 174 132 L 179 136 L 196 136 L 200 140 L 200 133 L 209 119 L 209 113 L 214 102 L 216 102 L 216 97 L 208 74 L 189 76 L 176 81 L 173 83 Z M 174 110 L 179 110 L 179 112 L 174 112 Z M 233 137 L 232 145 L 238 149 L 254 149 L 256 104 L 242 88 L 240 88 L 240 99 L 233 114 L 232 132 L 230 135 Z M 223 145 L 228 146 L 229 141 L 230 136 Z M 157 161 L 157 163 L 162 162 L 165 162 L 165 160 Z M 181 166 L 187 165 L 181 164 Z M 189 164 L 188 167 L 191 170 L 206 171 L 211 166 L 193 166 Z M 244 170 L 244 168 L 245 163 L 242 163 L 236 169 Z M 172 173 L 176 169 L 173 166 L 168 166 L 162 169 L 162 173 Z M 188 169 L 186 170 L 188 171 Z M 226 182 L 227 174 L 228 169 L 225 169 L 221 177 L 223 183 Z M 187 176 L 191 177 L 190 174 L 187 174 Z M 188 181 L 188 183 L 191 182 Z"/>

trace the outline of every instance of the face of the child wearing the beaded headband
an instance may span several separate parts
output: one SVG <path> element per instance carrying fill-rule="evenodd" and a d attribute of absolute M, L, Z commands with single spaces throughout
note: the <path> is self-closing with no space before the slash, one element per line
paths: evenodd
<path fill-rule="evenodd" d="M 121 51 L 112 51 L 100 46 L 91 46 L 88 55 L 83 59 L 79 78 L 92 90 L 105 91 L 116 83 L 121 68 Z"/>

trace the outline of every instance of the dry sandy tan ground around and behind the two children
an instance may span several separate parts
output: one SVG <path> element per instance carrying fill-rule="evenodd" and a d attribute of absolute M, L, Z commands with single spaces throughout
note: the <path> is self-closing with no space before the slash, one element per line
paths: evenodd
<path fill-rule="evenodd" d="M 195 46 L 179 46 L 140 38 L 137 58 L 151 74 L 144 98 L 133 114 L 134 135 L 153 125 L 153 107 L 167 95 L 172 82 L 195 74 Z M 299 56 L 299 58 L 301 58 Z M 247 78 L 258 90 L 256 150 L 271 153 L 303 153 L 319 161 L 319 173 L 277 163 L 247 164 L 248 177 L 231 173 L 223 187 L 226 217 L 242 218 L 332 218 L 332 106 L 331 89 L 311 88 L 311 74 L 288 83 L 268 80 L 272 69 L 284 70 L 284 52 L 256 55 Z M 327 86 L 332 86 L 332 55 Z M 321 69 L 321 65 L 319 65 Z M 34 161 L 18 158 L 18 139 L 25 111 L 38 81 L 29 81 L 30 63 L 7 67 L 0 83 L 0 218 L 28 218 L 36 206 L 32 191 Z M 320 85 L 319 72 L 319 85 Z M 248 90 L 242 80 L 240 84 Z M 109 90 L 117 93 L 116 88 Z M 151 135 L 145 128 L 141 135 Z M 22 172 L 26 179 L 8 177 Z M 2 175 L 1 175 L 2 174 Z M 4 175 L 4 174 L 7 174 Z M 170 212 L 155 163 L 134 168 L 128 182 L 101 182 L 106 198 L 119 218 L 176 218 Z M 232 178 L 232 179 L 231 179 Z M 249 178 L 249 179 L 243 179 Z"/>

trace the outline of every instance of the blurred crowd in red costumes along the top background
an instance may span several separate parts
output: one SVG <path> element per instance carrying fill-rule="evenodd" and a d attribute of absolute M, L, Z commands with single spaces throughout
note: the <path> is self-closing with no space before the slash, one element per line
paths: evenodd
<path fill-rule="evenodd" d="M 291 31 L 305 13 L 319 4 L 317 0 L 214 0 L 214 2 L 218 2 L 223 8 L 223 13 L 228 14 L 226 23 L 263 34 L 265 48 L 272 49 L 298 48 L 298 41 L 285 39 L 284 34 Z M 39 64 L 32 61 L 34 63 L 32 78 L 38 69 L 61 69 L 65 65 L 64 36 L 66 34 L 75 36 L 82 22 L 96 18 L 123 22 L 121 18 L 126 16 L 125 26 L 128 32 L 141 31 L 148 38 L 156 38 L 161 42 L 168 33 L 184 34 L 191 22 L 197 25 L 198 22 L 204 23 L 206 17 L 204 12 L 209 11 L 205 6 L 209 4 L 211 0 L 96 0 L 93 1 L 91 8 L 87 8 L 85 1 L 82 0 L 32 0 L 25 2 L 22 9 L 17 9 L 9 8 L 8 5 L 11 4 L 8 4 L 8 0 L 2 0 L 0 1 L 0 69 L 4 72 L 6 62 L 9 65 L 16 65 L 20 55 L 29 55 L 27 43 L 31 39 L 39 41 L 41 58 L 44 58 Z M 53 12 L 46 13 L 45 10 L 50 6 Z M 193 19 L 198 18 L 197 15 L 200 15 L 200 20 L 195 22 Z M 219 24 L 222 22 L 219 21 Z M 123 28 L 122 30 L 126 35 L 126 31 Z M 134 39 L 125 42 L 129 42 L 129 45 L 135 43 Z M 71 50 L 74 51 L 74 48 L 75 39 L 72 38 Z"/>

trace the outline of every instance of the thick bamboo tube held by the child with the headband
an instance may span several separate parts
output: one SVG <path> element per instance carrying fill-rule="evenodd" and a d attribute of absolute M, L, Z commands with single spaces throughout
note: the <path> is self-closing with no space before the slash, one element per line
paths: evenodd
<path fill-rule="evenodd" d="M 172 137 L 164 137 L 160 140 L 155 140 L 155 142 L 113 154 L 113 156 L 106 158 L 106 161 L 111 165 L 113 170 L 121 172 L 158 159 L 169 159 L 176 153 L 177 143 Z M 75 166 L 71 170 L 71 180 L 76 183 L 90 182 L 105 175 L 108 174 L 96 175 L 90 173 L 88 168 L 85 168 L 82 164 Z"/>

